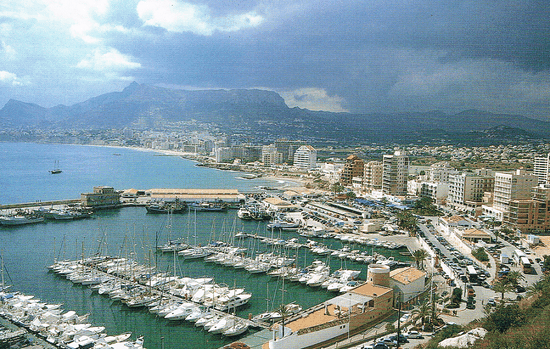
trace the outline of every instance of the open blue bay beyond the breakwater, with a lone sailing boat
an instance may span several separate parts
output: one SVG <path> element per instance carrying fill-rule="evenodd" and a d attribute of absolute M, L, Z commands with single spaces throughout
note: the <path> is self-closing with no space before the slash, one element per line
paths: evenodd
<path fill-rule="evenodd" d="M 120 154 L 115 156 L 114 154 Z M 62 173 L 49 173 L 56 164 Z M 115 189 L 236 188 L 269 185 L 197 167 L 178 156 L 124 148 L 0 143 L 0 204 L 80 198 L 94 186 Z M 271 182 L 272 183 L 272 182 Z"/>

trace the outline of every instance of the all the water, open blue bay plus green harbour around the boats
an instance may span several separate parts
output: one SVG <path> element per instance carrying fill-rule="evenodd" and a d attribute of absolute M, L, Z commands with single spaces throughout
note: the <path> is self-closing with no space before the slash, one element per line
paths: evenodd
<path fill-rule="evenodd" d="M 50 174 L 59 167 L 62 173 Z M 202 166 L 179 156 L 131 148 L 96 147 L 67 144 L 0 143 L 0 204 L 77 199 L 94 186 L 112 186 L 117 190 L 135 188 L 226 188 L 243 192 L 260 187 L 292 187 L 291 181 L 264 178 L 244 179 L 241 173 Z M 295 232 L 273 232 L 267 222 L 242 221 L 236 210 L 197 212 L 180 215 L 151 215 L 144 207 L 102 210 L 93 218 L 78 221 L 45 222 L 20 227 L 0 227 L 0 253 L 4 279 L 13 289 L 34 295 L 48 303 L 62 303 L 64 309 L 90 314 L 94 326 L 104 326 L 115 335 L 132 332 L 144 336 L 148 349 L 221 348 L 238 338 L 212 335 L 192 323 L 170 322 L 150 314 L 147 309 L 130 309 L 118 301 L 92 293 L 87 287 L 47 269 L 55 260 L 80 259 L 93 255 L 132 258 L 154 266 L 159 272 L 186 277 L 210 277 L 218 284 L 244 288 L 252 293 L 250 302 L 237 309 L 248 318 L 280 304 L 295 302 L 304 309 L 335 296 L 321 288 L 281 282 L 265 274 L 249 274 L 203 260 L 184 260 L 173 254 L 155 252 L 155 246 L 170 239 L 183 238 L 193 244 L 213 240 L 229 241 L 236 232 L 279 239 L 305 238 Z M 319 240 L 329 247 L 343 246 L 336 239 Z M 270 252 L 273 247 L 257 239 L 240 242 L 250 251 Z M 366 249 L 352 246 L 352 249 Z M 371 250 L 372 248 L 369 248 Z M 374 249 L 396 260 L 407 260 L 397 251 Z M 304 249 L 292 252 L 299 266 L 311 264 L 318 256 Z M 367 266 L 342 260 L 326 260 L 332 270 L 361 270 Z M 250 331 L 256 331 L 254 329 Z M 249 332 L 250 333 L 250 332 Z"/>

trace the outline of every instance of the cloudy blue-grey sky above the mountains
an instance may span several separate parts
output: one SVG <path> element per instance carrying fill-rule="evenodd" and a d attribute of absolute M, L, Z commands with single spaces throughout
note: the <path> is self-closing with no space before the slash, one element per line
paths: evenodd
<path fill-rule="evenodd" d="M 550 116 L 550 1 L 7 0 L 0 106 L 131 82 L 289 107 Z"/>

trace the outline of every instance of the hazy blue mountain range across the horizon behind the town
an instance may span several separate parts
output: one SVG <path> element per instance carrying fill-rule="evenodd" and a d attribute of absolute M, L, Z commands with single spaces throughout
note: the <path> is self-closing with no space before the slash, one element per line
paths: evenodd
<path fill-rule="evenodd" d="M 153 127 L 163 122 L 218 125 L 224 132 L 317 142 L 411 142 L 430 138 L 549 138 L 550 122 L 522 115 L 466 110 L 411 113 L 333 113 L 289 108 L 266 90 L 177 90 L 131 83 L 72 106 L 44 108 L 10 100 L 0 110 L 3 129 Z"/>

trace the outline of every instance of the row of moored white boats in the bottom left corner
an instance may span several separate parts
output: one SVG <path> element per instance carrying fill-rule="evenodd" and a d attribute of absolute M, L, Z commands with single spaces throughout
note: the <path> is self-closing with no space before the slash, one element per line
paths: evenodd
<path fill-rule="evenodd" d="M 0 316 L 63 349 L 143 349 L 143 337 L 131 333 L 109 336 L 105 327 L 92 326 L 88 314 L 64 311 L 33 296 L 0 290 Z"/>

